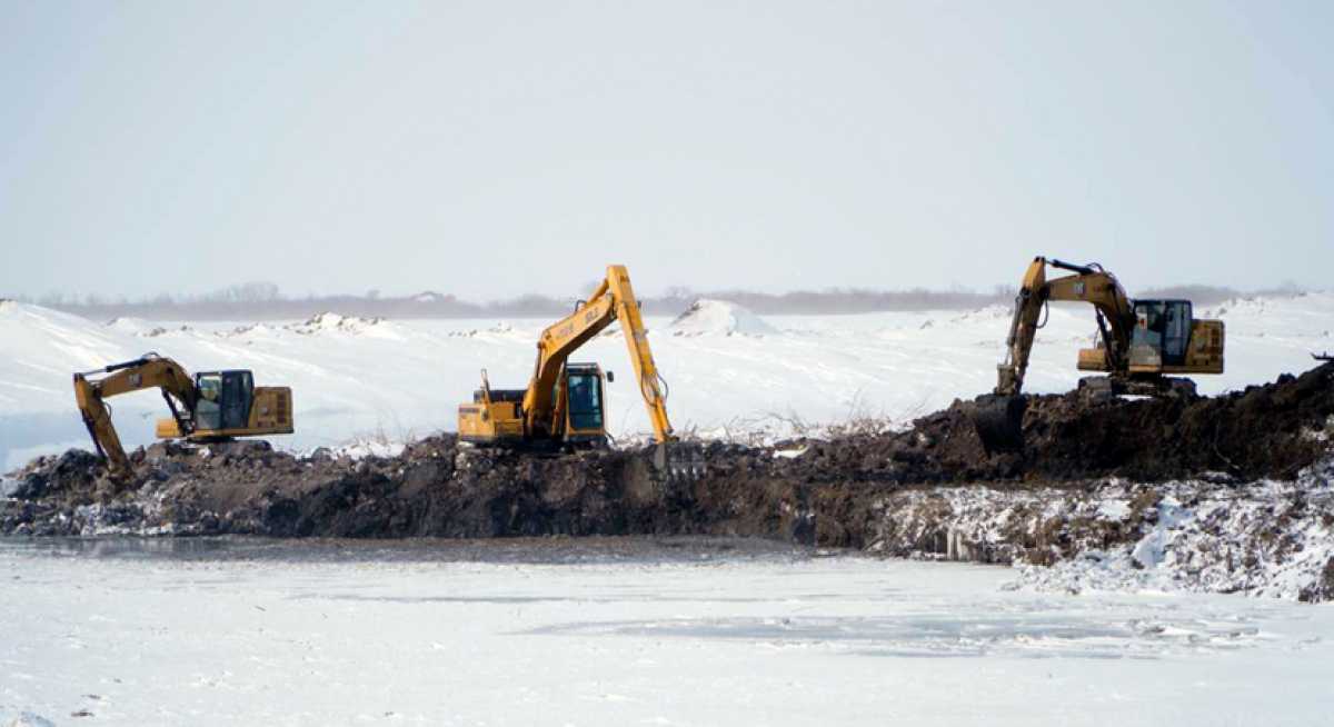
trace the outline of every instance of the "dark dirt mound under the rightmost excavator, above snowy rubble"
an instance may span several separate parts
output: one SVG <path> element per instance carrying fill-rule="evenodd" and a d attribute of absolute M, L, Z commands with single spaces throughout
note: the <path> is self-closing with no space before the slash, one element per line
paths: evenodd
<path fill-rule="evenodd" d="M 1014 447 L 988 448 L 975 402 L 903 432 L 811 443 L 784 467 L 811 482 L 1166 482 L 1201 474 L 1293 479 L 1334 436 L 1334 364 L 1215 398 L 1025 396 Z"/>

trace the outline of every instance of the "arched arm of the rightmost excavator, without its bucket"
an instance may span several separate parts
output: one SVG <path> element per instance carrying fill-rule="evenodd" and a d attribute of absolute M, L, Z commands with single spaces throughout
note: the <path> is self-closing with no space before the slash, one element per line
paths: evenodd
<path fill-rule="evenodd" d="M 1047 280 L 1047 265 L 1074 275 Z M 1029 356 L 1033 353 L 1038 328 L 1042 327 L 1039 319 L 1051 300 L 1083 301 L 1094 307 L 1102 352 L 1106 357 L 1102 361 L 1103 370 L 1117 370 L 1126 356 L 1134 327 L 1134 309 L 1117 277 L 1099 265 L 1073 265 L 1061 260 L 1034 257 L 1015 297 L 1010 335 L 1006 337 L 1006 359 L 996 367 L 995 394 L 1014 396 L 1023 390 Z"/>

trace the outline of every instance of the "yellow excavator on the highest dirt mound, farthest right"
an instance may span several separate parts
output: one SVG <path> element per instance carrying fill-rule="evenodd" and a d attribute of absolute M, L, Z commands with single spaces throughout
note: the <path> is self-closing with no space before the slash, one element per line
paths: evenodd
<path fill-rule="evenodd" d="M 1049 280 L 1049 267 L 1070 275 Z M 1079 351 L 1077 367 L 1107 375 L 1082 379 L 1081 391 L 1097 396 L 1194 396 L 1194 382 L 1171 375 L 1223 372 L 1223 321 L 1194 317 L 1189 300 L 1131 300 L 1117 277 L 1097 263 L 1034 257 L 1015 297 L 994 396 L 976 416 L 988 446 L 1017 443 L 1029 355 L 1053 300 L 1089 303 L 1097 315 L 1098 340 Z"/>

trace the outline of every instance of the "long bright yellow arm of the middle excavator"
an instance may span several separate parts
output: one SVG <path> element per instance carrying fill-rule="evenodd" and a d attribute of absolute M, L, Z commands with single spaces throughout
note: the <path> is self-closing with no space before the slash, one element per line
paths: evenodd
<path fill-rule="evenodd" d="M 524 427 L 530 434 L 556 431 L 559 407 L 555 402 L 555 390 L 560 371 L 571 353 L 618 320 L 626 335 L 626 347 L 635 366 L 639 392 L 648 410 L 654 436 L 659 443 L 676 439 L 667 419 L 667 399 L 659 383 L 652 349 L 648 347 L 639 301 L 635 299 L 630 273 L 624 265 L 608 265 L 607 277 L 598 284 L 588 301 L 542 332 L 532 380 L 523 398 Z"/>

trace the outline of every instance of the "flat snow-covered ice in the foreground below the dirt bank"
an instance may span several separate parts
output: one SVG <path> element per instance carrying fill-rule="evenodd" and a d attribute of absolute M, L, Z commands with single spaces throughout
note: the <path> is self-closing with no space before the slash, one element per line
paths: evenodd
<path fill-rule="evenodd" d="M 754 542 L 7 540 L 0 574 L 0 724 L 1327 724 L 1334 679 L 1329 607 Z"/>

